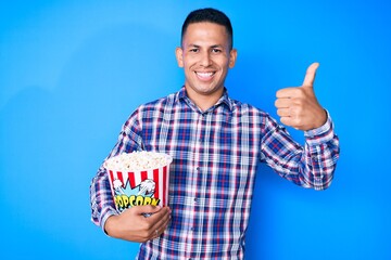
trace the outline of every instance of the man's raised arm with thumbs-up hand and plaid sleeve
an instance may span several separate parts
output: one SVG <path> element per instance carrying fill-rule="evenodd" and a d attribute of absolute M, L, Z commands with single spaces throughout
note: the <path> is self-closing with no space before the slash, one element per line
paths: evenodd
<path fill-rule="evenodd" d="M 274 120 L 268 120 L 264 154 L 267 164 L 286 179 L 301 186 L 325 190 L 336 169 L 339 140 L 328 113 L 315 96 L 313 86 L 318 66 L 313 63 L 307 68 L 301 87 L 279 90 L 275 103 L 282 123 L 304 131 L 304 147 Z"/>

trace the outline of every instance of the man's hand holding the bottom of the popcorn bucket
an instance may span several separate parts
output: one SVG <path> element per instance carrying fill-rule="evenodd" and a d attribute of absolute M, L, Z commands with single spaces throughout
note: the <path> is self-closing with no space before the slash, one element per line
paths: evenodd
<path fill-rule="evenodd" d="M 144 213 L 152 214 L 144 217 Z M 135 206 L 121 214 L 110 217 L 104 230 L 112 237 L 143 243 L 160 236 L 167 227 L 169 220 L 168 207 Z"/>

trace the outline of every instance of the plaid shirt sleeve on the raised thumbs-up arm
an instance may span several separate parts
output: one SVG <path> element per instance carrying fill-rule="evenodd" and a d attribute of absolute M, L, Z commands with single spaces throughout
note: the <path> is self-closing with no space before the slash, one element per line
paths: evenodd
<path fill-rule="evenodd" d="M 326 190 L 337 167 L 340 147 L 327 113 L 324 126 L 304 131 L 305 144 L 299 145 L 287 130 L 268 117 L 262 142 L 262 160 L 279 176 L 303 187 Z"/>

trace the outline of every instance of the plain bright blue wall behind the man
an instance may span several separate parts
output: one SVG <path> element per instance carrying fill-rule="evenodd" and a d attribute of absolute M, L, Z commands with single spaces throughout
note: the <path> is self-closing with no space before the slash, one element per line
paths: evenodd
<path fill-rule="evenodd" d="M 89 183 L 136 106 L 182 84 L 174 49 L 204 6 L 234 24 L 234 98 L 276 116 L 275 92 L 317 61 L 316 94 L 341 141 L 326 192 L 261 167 L 247 259 L 391 259 L 391 3 L 380 0 L 1 1 L 4 259 L 134 258 L 137 244 L 90 222 Z"/>

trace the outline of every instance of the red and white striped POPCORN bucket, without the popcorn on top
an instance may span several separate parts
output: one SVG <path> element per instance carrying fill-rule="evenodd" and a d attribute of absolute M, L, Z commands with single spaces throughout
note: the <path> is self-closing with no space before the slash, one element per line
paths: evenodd
<path fill-rule="evenodd" d="M 118 212 L 127 208 L 142 205 L 167 206 L 169 165 L 140 171 L 118 171 L 108 169 L 111 191 Z"/>

